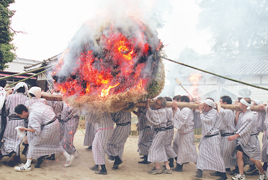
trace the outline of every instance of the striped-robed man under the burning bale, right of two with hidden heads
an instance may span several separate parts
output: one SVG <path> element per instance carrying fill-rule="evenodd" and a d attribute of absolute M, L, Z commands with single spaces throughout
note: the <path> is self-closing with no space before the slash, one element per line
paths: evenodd
<path fill-rule="evenodd" d="M 122 164 L 124 146 L 131 131 L 131 113 L 119 111 L 112 113 L 112 120 L 116 123 L 113 134 L 107 143 L 107 155 L 114 160 L 113 169 Z"/>

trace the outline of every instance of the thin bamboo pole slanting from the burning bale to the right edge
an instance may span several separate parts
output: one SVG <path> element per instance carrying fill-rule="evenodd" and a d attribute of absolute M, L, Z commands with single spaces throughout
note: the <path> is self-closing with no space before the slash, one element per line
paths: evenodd
<path fill-rule="evenodd" d="M 207 74 L 211 74 L 211 75 L 214 75 L 214 76 L 223 78 L 223 79 L 227 79 L 227 80 L 234 81 L 234 82 L 237 82 L 237 83 L 240 83 L 240 84 L 244 84 L 244 85 L 247 85 L 247 86 L 251 86 L 251 87 L 255 87 L 255 88 L 258 88 L 258 89 L 263 89 L 263 90 L 268 91 L 268 88 L 265 88 L 265 87 L 256 86 L 256 85 L 254 85 L 254 84 L 249 84 L 249 83 L 246 83 L 246 82 L 243 82 L 243 81 L 239 81 L 239 80 L 236 80 L 236 79 L 228 78 L 228 77 L 225 77 L 225 76 L 222 76 L 222 75 L 213 73 L 213 72 L 209 72 L 209 71 L 206 71 L 206 70 L 203 70 L 203 69 L 199 69 L 199 68 L 194 67 L 194 66 L 190 66 L 190 65 L 188 65 L 188 64 L 184 64 L 184 63 L 181 63 L 181 62 L 174 61 L 174 60 L 169 59 L 169 58 L 166 58 L 166 57 L 161 57 L 161 58 L 163 58 L 163 59 L 165 59 L 165 60 L 168 60 L 168 61 L 170 61 L 170 62 L 176 63 L 176 64 L 180 64 L 180 65 L 182 65 L 182 66 L 186 66 L 186 67 L 189 67 L 189 68 L 192 68 L 192 69 L 195 69 L 195 70 L 198 70 L 198 71 L 207 73 Z"/>

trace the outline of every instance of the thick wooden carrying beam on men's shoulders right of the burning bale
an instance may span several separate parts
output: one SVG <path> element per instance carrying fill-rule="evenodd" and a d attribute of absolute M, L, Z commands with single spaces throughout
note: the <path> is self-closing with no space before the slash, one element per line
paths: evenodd
<path fill-rule="evenodd" d="M 172 107 L 172 103 L 173 102 L 167 102 L 166 107 Z M 198 109 L 198 104 L 196 104 L 196 103 L 187 103 L 187 102 L 175 102 L 175 103 L 177 104 L 177 106 L 179 108 L 188 107 L 188 108 L 191 108 L 191 109 Z M 153 105 L 153 104 L 154 104 L 154 102 L 150 102 L 150 105 Z M 146 106 L 146 103 L 141 102 L 141 103 L 137 103 L 135 105 L 137 107 L 141 107 L 141 106 Z M 239 105 L 222 104 L 221 107 L 224 108 L 224 109 L 231 109 L 231 110 L 234 110 L 234 111 L 241 111 Z M 252 111 L 263 111 L 263 110 L 260 110 L 259 106 L 254 106 L 254 105 L 251 105 L 250 109 Z"/>

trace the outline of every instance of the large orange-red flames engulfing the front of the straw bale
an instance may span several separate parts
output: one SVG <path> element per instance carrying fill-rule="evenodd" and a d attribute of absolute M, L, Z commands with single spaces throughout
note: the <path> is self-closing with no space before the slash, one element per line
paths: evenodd
<path fill-rule="evenodd" d="M 55 86 L 64 96 L 106 97 L 131 88 L 145 91 L 145 85 L 150 79 L 146 70 L 150 63 L 146 62 L 150 55 L 159 51 L 162 43 L 150 45 L 146 26 L 141 22 L 136 23 L 141 29 L 135 32 L 137 36 L 129 36 L 111 24 L 108 33 L 98 36 L 100 44 L 97 44 L 102 49 L 100 52 L 96 52 L 90 43 L 83 45 L 84 48 L 74 56 L 77 64 L 70 70 L 69 76 L 59 78 Z M 69 53 L 72 53 L 69 49 L 62 53 L 53 75 L 59 72 L 64 65 L 64 57 Z"/>

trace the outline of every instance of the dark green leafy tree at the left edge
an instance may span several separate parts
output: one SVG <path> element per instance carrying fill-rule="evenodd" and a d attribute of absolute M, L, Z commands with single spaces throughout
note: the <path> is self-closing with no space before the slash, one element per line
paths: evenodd
<path fill-rule="evenodd" d="M 12 62 L 16 57 L 15 46 L 11 43 L 15 32 L 10 27 L 10 19 L 15 12 L 8 9 L 9 5 L 14 2 L 15 0 L 0 1 L 0 70 L 8 67 L 5 64 Z"/>

